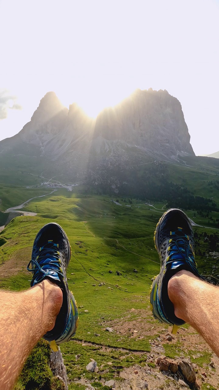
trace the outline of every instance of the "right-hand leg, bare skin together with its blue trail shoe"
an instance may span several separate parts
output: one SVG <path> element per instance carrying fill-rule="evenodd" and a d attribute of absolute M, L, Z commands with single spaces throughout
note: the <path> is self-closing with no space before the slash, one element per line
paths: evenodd
<path fill-rule="evenodd" d="M 159 220 L 154 238 L 161 260 L 150 292 L 154 317 L 173 325 L 172 333 L 178 325 L 189 322 L 219 354 L 219 323 L 215 323 L 219 289 L 198 273 L 189 218 L 181 210 L 168 210 Z"/>

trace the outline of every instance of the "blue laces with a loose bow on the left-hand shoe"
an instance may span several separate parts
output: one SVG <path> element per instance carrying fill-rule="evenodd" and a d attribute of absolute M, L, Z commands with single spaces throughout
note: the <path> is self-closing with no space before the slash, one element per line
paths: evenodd
<path fill-rule="evenodd" d="M 62 268 L 60 267 L 60 253 L 57 248 L 58 245 L 51 241 L 41 246 L 39 255 L 36 259 L 31 259 L 27 266 L 28 271 L 33 273 L 32 279 L 37 278 L 38 283 L 42 282 L 51 271 L 56 272 L 63 278 Z"/>

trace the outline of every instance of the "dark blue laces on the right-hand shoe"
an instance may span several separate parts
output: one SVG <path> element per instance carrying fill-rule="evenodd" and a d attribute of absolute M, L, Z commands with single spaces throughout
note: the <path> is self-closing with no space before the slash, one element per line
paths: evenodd
<path fill-rule="evenodd" d="M 177 233 L 180 234 L 177 235 L 176 232 L 171 232 L 171 236 L 175 237 L 169 240 L 167 261 L 173 262 L 183 259 L 196 264 L 191 238 L 183 234 L 181 230 Z"/>

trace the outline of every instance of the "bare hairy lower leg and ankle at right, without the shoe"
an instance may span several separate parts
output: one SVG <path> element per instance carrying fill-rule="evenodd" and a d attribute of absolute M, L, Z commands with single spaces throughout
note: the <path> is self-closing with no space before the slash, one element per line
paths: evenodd
<path fill-rule="evenodd" d="M 193 326 L 219 356 L 219 287 L 180 271 L 170 278 L 168 295 L 175 315 Z"/>

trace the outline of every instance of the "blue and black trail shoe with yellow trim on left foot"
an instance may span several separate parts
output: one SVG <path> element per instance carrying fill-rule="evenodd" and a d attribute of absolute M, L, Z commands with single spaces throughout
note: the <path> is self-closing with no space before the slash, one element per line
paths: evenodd
<path fill-rule="evenodd" d="M 73 294 L 69 291 L 66 271 L 71 259 L 71 246 L 64 230 L 57 223 L 48 223 L 34 240 L 32 258 L 27 269 L 33 273 L 30 285 L 49 279 L 57 284 L 63 293 L 63 303 L 54 328 L 44 335 L 57 351 L 57 345 L 68 341 L 76 332 L 78 308 Z M 31 266 L 31 268 L 30 268 Z"/>

